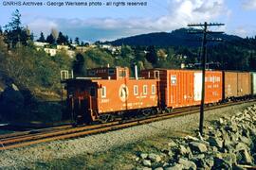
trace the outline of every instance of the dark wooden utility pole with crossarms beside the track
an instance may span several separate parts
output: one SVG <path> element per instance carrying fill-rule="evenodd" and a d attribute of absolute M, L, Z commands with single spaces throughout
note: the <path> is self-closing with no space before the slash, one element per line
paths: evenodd
<path fill-rule="evenodd" d="M 206 76 L 206 48 L 207 48 L 207 34 L 220 34 L 223 32 L 220 31 L 208 31 L 208 26 L 224 26 L 224 24 L 210 23 L 205 22 L 204 24 L 191 24 L 188 26 L 203 26 L 203 30 L 196 30 L 194 32 L 189 32 L 192 34 L 203 34 L 203 42 L 202 42 L 202 93 L 201 93 L 201 105 L 200 105 L 200 122 L 199 122 L 199 132 L 201 136 L 203 136 L 203 124 L 204 124 L 204 108 L 205 108 L 205 76 Z M 214 40 L 210 40 L 214 41 Z M 219 40 L 216 40 L 217 42 Z"/>

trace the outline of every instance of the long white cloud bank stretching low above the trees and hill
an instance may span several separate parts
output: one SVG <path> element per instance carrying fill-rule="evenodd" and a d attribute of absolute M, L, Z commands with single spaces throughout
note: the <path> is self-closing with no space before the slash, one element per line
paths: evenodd
<path fill-rule="evenodd" d="M 187 26 L 190 23 L 212 22 L 218 16 L 229 16 L 230 10 L 225 7 L 224 0 L 168 0 L 169 13 L 158 18 L 90 18 L 90 19 L 36 19 L 28 24 L 32 30 L 49 32 L 56 27 L 66 33 L 76 31 L 75 36 L 88 35 L 85 30 L 99 31 L 101 39 L 115 39 L 155 31 L 171 31 L 175 28 Z M 155 16 L 152 16 L 155 17 Z M 82 31 L 84 30 L 84 31 Z M 98 36 L 98 35 L 96 35 Z M 99 38 L 99 37 L 97 37 Z"/>

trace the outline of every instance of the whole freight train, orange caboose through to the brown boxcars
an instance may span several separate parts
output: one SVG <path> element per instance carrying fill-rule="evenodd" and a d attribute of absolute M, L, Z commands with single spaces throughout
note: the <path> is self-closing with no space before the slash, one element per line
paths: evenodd
<path fill-rule="evenodd" d="M 147 69 L 131 77 L 127 67 L 87 70 L 64 79 L 66 108 L 75 125 L 110 122 L 192 107 L 201 102 L 202 72 Z M 256 73 L 207 70 L 205 104 L 243 100 L 256 94 Z"/>

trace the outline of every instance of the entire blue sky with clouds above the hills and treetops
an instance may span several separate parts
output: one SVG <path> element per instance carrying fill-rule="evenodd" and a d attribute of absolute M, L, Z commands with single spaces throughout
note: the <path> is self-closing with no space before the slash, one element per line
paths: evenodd
<path fill-rule="evenodd" d="M 0 26 L 8 24 L 17 8 L 23 26 L 38 35 L 52 28 L 71 38 L 83 41 L 115 40 L 122 37 L 167 31 L 190 23 L 218 22 L 226 26 L 216 29 L 241 37 L 256 35 L 256 0 L 119 0 L 119 2 L 147 2 L 143 7 L 19 7 L 5 6 L 0 0 Z M 25 2 L 29 0 L 24 0 Z M 24 2 L 21 1 L 21 2 Z M 51 0 L 57 2 L 58 0 Z M 96 0 L 69 0 L 96 2 Z M 118 0 L 98 0 L 101 3 Z M 30 2 L 48 2 L 30 0 Z M 64 2 L 64 0 L 59 0 Z M 254 19 L 253 19 L 254 18 Z"/>

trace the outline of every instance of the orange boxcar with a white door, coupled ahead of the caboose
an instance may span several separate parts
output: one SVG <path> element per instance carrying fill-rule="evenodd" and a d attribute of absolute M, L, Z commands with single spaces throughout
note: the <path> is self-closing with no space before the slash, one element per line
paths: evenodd
<path fill-rule="evenodd" d="M 202 73 L 195 70 L 143 70 L 141 76 L 159 78 L 160 105 L 179 108 L 199 105 L 202 92 Z M 206 72 L 205 103 L 222 99 L 222 72 Z"/>

